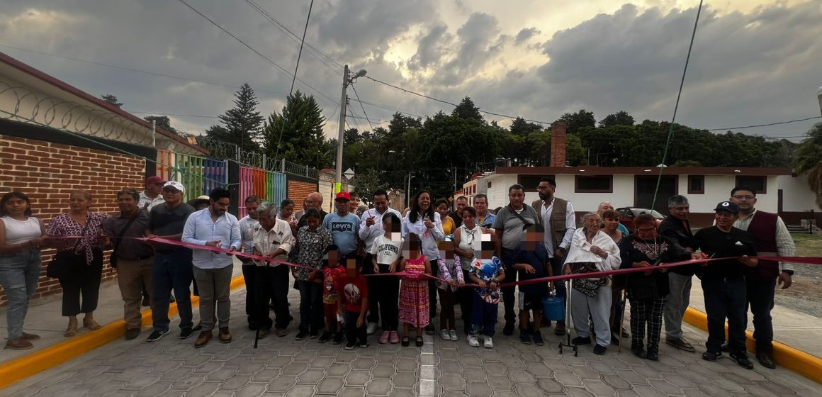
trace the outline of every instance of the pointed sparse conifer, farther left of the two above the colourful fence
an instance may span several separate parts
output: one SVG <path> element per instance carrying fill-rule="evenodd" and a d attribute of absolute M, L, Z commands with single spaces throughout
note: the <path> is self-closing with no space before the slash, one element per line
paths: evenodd
<path fill-rule="evenodd" d="M 211 126 L 205 135 L 217 141 L 238 145 L 240 150 L 259 150 L 257 141 L 265 118 L 256 110 L 258 104 L 260 103 L 257 102 L 251 85 L 243 84 L 234 94 L 234 107 L 219 116 L 219 121 L 225 127 Z"/>

